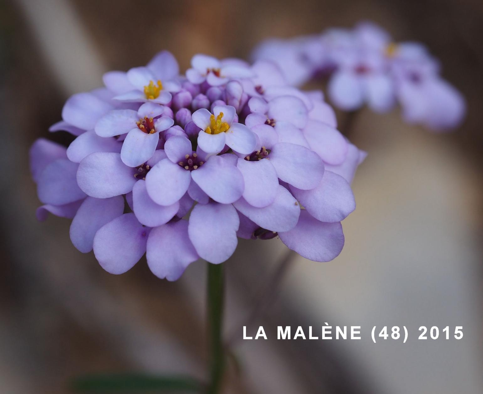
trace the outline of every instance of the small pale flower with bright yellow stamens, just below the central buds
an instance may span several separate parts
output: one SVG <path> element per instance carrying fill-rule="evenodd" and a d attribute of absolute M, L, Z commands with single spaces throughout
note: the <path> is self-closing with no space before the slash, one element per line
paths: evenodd
<path fill-rule="evenodd" d="M 244 124 L 234 122 L 235 108 L 227 105 L 198 109 L 191 115 L 193 122 L 201 129 L 198 146 L 206 153 L 219 153 L 225 145 L 241 154 L 252 153 L 256 139 Z"/>

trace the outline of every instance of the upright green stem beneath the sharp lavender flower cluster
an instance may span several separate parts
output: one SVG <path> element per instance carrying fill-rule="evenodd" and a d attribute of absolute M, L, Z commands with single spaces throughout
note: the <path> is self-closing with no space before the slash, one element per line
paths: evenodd
<path fill-rule="evenodd" d="M 208 394 L 218 394 L 225 370 L 225 349 L 222 341 L 223 326 L 223 264 L 208 264 L 208 332 L 210 336 L 210 382 Z"/>

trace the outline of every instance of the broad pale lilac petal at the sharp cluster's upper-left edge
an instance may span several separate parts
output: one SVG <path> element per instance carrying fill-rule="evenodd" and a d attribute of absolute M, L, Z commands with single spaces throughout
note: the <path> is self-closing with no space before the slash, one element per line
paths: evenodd
<path fill-rule="evenodd" d="M 113 106 L 91 93 L 77 93 L 69 97 L 62 108 L 62 119 L 84 130 L 93 129 L 99 118 Z"/>

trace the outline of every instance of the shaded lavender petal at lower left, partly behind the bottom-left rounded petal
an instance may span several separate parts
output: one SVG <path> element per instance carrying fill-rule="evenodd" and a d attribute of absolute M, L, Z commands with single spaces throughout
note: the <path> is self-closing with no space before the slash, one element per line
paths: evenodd
<path fill-rule="evenodd" d="M 72 244 L 82 253 L 92 250 L 96 232 L 124 212 L 124 198 L 87 197 L 71 223 Z"/>

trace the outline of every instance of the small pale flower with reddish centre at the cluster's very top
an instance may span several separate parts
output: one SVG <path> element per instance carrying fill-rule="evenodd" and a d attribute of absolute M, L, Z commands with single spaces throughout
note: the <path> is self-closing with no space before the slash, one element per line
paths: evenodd
<path fill-rule="evenodd" d="M 218 60 L 205 54 L 194 55 L 191 67 L 186 70 L 186 78 L 192 83 L 206 81 L 211 86 L 220 86 L 231 78 L 250 78 L 253 74 L 248 65 L 229 59 Z"/>

